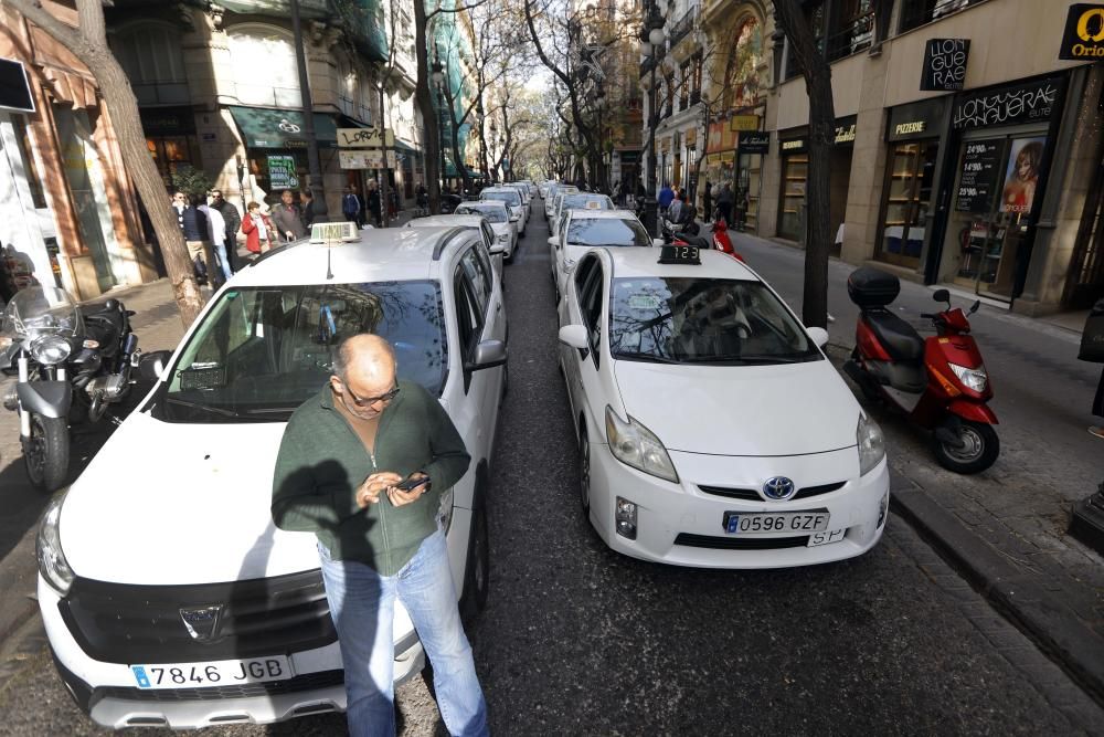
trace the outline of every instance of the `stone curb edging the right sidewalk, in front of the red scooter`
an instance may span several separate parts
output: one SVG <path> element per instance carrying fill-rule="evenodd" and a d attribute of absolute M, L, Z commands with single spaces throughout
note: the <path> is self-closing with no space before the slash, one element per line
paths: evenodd
<path fill-rule="evenodd" d="M 890 502 L 987 601 L 1104 706 L 1104 639 L 923 489 L 894 491 Z"/>

